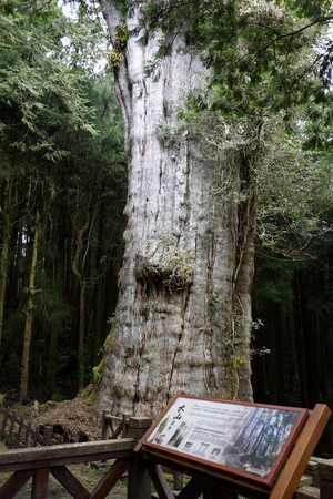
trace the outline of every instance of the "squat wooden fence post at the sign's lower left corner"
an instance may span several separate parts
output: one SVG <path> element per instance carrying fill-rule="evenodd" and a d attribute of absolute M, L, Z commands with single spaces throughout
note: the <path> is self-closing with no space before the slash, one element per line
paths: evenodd
<path fill-rule="evenodd" d="M 135 441 L 141 440 L 145 431 L 151 427 L 149 418 L 130 418 L 129 437 Z M 148 469 L 138 454 L 132 459 L 128 477 L 128 499 L 147 499 L 151 497 L 151 479 Z"/>

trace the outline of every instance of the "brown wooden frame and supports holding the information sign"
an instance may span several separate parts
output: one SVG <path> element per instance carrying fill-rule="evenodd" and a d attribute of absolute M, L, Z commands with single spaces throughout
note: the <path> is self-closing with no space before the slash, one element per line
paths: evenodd
<path fill-rule="evenodd" d="M 280 470 L 278 469 L 275 482 L 271 487 L 268 485 L 268 482 L 272 482 L 270 479 L 262 481 L 260 478 L 253 478 L 251 473 L 248 478 L 245 473 L 239 472 L 238 470 L 234 472 L 233 469 L 229 472 L 228 467 L 216 468 L 211 466 L 206 460 L 193 460 L 191 456 L 185 454 L 178 451 L 170 452 L 170 449 L 163 448 L 161 444 L 155 445 L 149 442 L 148 440 L 153 437 L 153 432 L 165 418 L 170 407 L 172 407 L 174 401 L 179 400 L 180 397 L 193 399 L 193 397 L 188 397 L 183 393 L 178 394 L 134 449 L 138 452 L 135 462 L 137 466 L 139 466 L 139 483 L 142 481 L 142 471 L 148 471 L 160 499 L 174 499 L 160 466 L 167 466 L 170 469 L 192 477 L 179 493 L 180 499 L 199 498 L 201 493 L 204 493 L 206 499 L 236 499 L 239 495 L 250 499 L 292 499 L 309 459 L 313 455 L 331 416 L 331 410 L 325 404 L 316 404 L 313 410 L 296 409 L 301 410 L 302 414 L 305 414 L 305 416 L 303 416 L 305 422 L 303 422 L 303 426 L 300 424 L 297 427 L 296 430 L 299 430 L 299 435 L 294 434 L 291 436 L 289 445 L 292 445 L 292 448 L 290 450 L 284 450 L 285 456 L 283 456 L 278 464 L 279 466 L 281 465 L 282 468 Z M 201 397 L 198 397 L 198 399 L 210 400 Z M 243 403 L 230 403 L 228 400 L 220 401 L 243 405 Z M 251 406 L 250 404 L 245 405 Z M 280 406 L 264 406 L 260 404 L 258 406 L 266 407 L 269 409 L 276 407 L 278 409 L 281 408 Z M 293 408 L 282 407 L 282 409 L 289 410 Z M 145 499 L 147 493 L 141 493 L 141 489 L 142 487 L 135 487 L 135 498 Z"/>

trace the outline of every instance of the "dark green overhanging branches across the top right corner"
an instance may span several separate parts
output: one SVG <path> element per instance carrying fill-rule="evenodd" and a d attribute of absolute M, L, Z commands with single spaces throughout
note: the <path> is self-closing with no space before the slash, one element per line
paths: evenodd
<path fill-rule="evenodd" d="M 287 122 L 303 106 L 307 146 L 331 143 L 330 1 L 130 1 L 130 11 L 134 4 L 142 4 L 140 32 L 160 37 L 150 71 L 158 71 L 159 58 L 170 54 L 181 33 L 211 71 L 210 109 L 238 118 L 283 111 Z M 202 93 L 198 105 L 206 105 Z"/>

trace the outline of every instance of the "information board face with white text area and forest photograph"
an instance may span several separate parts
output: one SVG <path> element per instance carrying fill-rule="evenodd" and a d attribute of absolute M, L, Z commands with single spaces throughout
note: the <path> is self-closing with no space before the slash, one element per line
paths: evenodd
<path fill-rule="evenodd" d="M 305 409 L 179 396 L 144 444 L 271 483 Z"/>

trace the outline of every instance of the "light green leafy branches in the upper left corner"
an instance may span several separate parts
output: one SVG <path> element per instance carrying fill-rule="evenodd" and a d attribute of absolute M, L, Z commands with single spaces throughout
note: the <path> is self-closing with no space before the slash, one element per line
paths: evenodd
<path fill-rule="evenodd" d="M 68 153 L 57 144 L 60 131 L 95 133 L 87 72 L 67 61 L 71 23 L 56 1 L 17 0 L 0 7 L 0 30 L 1 139 L 11 150 L 60 160 Z"/>

